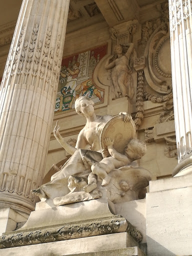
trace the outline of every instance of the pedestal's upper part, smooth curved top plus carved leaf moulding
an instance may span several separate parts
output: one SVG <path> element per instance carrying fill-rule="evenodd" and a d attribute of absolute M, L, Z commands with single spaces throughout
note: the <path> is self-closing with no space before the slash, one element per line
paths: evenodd
<path fill-rule="evenodd" d="M 2 234 L 0 251 L 9 247 L 123 232 L 129 235 L 128 246 L 137 246 L 142 240 L 142 234 L 131 223 L 111 213 L 115 213 L 114 205 L 106 199 L 58 207 L 51 207 L 51 201 L 39 204 L 20 229 Z"/>

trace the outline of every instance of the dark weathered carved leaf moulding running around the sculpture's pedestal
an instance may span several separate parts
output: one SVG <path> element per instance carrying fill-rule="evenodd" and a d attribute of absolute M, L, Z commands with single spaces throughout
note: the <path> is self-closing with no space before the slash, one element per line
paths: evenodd
<path fill-rule="evenodd" d="M 9 248 L 30 244 L 68 240 L 73 238 L 103 235 L 126 231 L 137 242 L 141 242 L 142 234 L 136 230 L 125 218 L 114 215 L 102 219 L 92 219 L 89 222 L 67 223 L 64 226 L 38 229 L 33 231 L 15 231 L 3 235 L 0 239 L 0 248 Z"/>

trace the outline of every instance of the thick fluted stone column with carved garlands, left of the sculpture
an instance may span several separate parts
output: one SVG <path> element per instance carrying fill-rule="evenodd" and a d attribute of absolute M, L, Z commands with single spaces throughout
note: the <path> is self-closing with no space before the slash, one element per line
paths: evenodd
<path fill-rule="evenodd" d="M 69 0 L 23 0 L 0 86 L 0 207 L 29 213 L 42 183 Z"/>

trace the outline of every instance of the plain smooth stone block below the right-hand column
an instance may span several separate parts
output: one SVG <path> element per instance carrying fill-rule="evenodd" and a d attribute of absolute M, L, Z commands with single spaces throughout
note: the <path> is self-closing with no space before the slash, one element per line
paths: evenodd
<path fill-rule="evenodd" d="M 192 177 L 150 181 L 146 194 L 147 256 L 190 255 Z"/>

